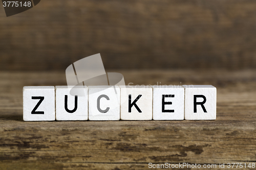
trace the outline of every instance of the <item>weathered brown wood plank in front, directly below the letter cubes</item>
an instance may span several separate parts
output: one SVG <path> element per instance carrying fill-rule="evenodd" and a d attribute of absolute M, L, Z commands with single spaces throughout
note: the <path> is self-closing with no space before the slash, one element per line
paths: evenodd
<path fill-rule="evenodd" d="M 255 162 L 254 120 L 27 123 L 15 118 L 20 122 L 1 116 L 1 162 Z"/>

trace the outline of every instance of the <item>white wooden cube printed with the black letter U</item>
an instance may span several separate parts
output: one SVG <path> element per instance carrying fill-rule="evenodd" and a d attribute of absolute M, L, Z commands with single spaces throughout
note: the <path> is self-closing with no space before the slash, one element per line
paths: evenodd
<path fill-rule="evenodd" d="M 88 88 L 56 86 L 56 120 L 88 120 Z"/>

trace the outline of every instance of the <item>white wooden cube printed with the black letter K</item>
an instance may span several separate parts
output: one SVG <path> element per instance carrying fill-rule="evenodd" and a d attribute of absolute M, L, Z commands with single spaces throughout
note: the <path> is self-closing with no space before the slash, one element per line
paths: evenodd
<path fill-rule="evenodd" d="M 121 89 L 120 119 L 152 120 L 152 87 L 143 85 L 119 87 Z"/>

